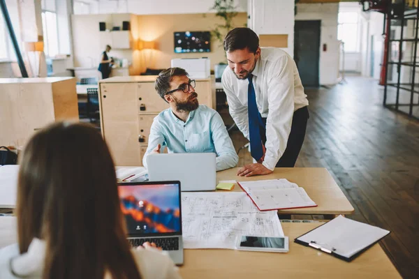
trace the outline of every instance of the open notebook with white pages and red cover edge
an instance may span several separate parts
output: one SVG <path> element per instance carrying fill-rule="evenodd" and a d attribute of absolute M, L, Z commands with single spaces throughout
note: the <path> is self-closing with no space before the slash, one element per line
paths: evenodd
<path fill-rule="evenodd" d="M 317 206 L 306 191 L 286 179 L 237 182 L 260 211 Z"/>

